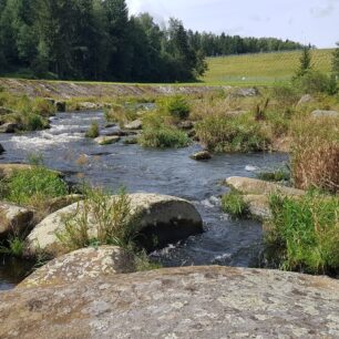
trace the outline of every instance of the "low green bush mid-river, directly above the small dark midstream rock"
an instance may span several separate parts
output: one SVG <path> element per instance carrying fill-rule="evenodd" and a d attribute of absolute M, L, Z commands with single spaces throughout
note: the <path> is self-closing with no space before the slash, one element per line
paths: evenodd
<path fill-rule="evenodd" d="M 172 126 L 146 127 L 138 143 L 144 147 L 181 148 L 189 145 L 187 134 Z"/>

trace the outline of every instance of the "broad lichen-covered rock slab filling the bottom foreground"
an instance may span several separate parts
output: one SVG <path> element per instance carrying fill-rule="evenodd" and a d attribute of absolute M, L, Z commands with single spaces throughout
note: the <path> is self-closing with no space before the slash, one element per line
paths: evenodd
<path fill-rule="evenodd" d="M 1 338 L 338 338 L 339 281 L 186 267 L 0 292 Z"/>

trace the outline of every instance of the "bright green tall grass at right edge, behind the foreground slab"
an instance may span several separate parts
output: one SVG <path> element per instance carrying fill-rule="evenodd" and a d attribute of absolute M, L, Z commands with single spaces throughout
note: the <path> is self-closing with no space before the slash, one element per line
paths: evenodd
<path fill-rule="evenodd" d="M 339 199 L 308 194 L 298 199 L 273 195 L 266 225 L 269 261 L 287 270 L 339 273 Z"/>

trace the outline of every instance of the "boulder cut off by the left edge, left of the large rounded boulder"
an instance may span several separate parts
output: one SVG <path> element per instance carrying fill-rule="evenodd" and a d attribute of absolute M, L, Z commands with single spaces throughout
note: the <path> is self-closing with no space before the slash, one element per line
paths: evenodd
<path fill-rule="evenodd" d="M 29 208 L 0 202 L 0 239 L 9 235 L 29 233 L 34 212 Z"/>

